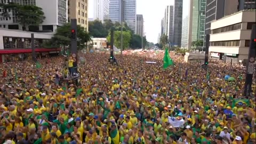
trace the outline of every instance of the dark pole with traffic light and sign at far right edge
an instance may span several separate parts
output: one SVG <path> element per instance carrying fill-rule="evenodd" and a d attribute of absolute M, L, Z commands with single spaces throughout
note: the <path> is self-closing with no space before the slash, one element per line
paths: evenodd
<path fill-rule="evenodd" d="M 248 63 L 246 66 L 246 78 L 244 84 L 244 97 L 249 99 L 252 91 L 252 78 L 254 73 L 254 62 L 256 53 L 256 25 L 252 26 L 251 43 L 248 54 Z"/>

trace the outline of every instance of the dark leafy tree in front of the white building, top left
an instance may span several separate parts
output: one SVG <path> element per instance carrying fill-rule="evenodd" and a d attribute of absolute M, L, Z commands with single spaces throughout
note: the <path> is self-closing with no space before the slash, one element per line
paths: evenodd
<path fill-rule="evenodd" d="M 29 26 L 38 26 L 43 23 L 45 17 L 44 12 L 41 7 L 36 5 L 19 5 L 15 3 L 1 4 L 0 7 L 3 8 L 3 17 L 9 18 L 11 15 L 8 10 L 16 11 L 16 16 L 18 21 L 22 26 L 22 30 L 26 30 Z"/>

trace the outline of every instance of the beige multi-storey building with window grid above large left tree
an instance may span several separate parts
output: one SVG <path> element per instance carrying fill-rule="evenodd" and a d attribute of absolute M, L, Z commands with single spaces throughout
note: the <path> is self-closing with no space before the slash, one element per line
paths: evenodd
<path fill-rule="evenodd" d="M 68 0 L 68 21 L 76 19 L 88 31 L 88 0 Z"/>

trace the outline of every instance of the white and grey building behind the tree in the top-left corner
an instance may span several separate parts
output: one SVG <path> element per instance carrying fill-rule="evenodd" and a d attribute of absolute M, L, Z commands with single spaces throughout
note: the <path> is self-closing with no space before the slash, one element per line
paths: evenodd
<path fill-rule="evenodd" d="M 68 20 L 68 3 L 67 0 L 4 0 L 0 1 L 0 4 L 17 3 L 20 5 L 36 5 L 41 7 L 44 12 L 44 22 L 38 27 L 34 27 L 34 30 L 50 30 L 55 31 L 57 26 L 62 26 Z M 1 10 L 1 9 L 0 9 Z M 0 11 L 1 15 L 2 11 Z M 8 29 L 20 29 L 22 26 L 19 24 L 15 11 L 9 10 L 11 17 L 4 18 L 0 16 L 0 28 Z M 29 30 L 30 28 L 26 28 Z"/>

